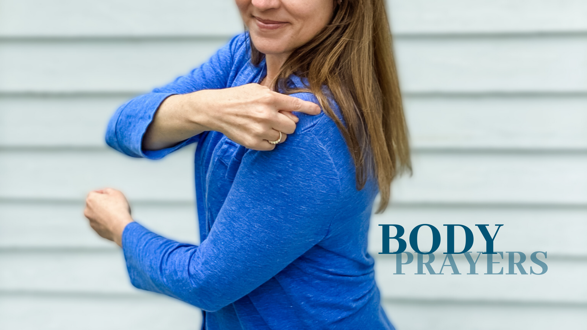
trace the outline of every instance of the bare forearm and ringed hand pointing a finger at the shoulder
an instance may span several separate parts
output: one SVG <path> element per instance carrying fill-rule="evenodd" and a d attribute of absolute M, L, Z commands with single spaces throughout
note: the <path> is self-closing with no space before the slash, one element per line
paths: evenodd
<path fill-rule="evenodd" d="M 257 83 L 225 89 L 206 89 L 167 97 L 143 137 L 143 148 L 173 146 L 206 130 L 254 150 L 272 150 L 295 131 L 298 118 L 292 111 L 318 115 L 312 102 L 271 91 Z"/>

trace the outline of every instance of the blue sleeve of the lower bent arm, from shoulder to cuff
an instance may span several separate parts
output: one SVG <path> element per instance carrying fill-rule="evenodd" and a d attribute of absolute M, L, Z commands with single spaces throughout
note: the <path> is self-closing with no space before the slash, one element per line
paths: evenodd
<path fill-rule="evenodd" d="M 245 153 L 208 237 L 195 246 L 127 225 L 123 251 L 140 289 L 216 311 L 319 243 L 340 210 L 340 179 L 311 132 Z"/>

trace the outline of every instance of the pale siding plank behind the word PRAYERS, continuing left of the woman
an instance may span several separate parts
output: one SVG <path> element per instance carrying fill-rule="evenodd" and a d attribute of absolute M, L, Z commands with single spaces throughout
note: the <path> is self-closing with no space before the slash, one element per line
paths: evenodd
<path fill-rule="evenodd" d="M 476 256 L 475 256 L 476 257 Z M 544 275 L 484 275 L 485 256 L 480 257 L 476 271 L 467 275 L 468 264 L 456 257 L 461 275 L 452 275 L 445 267 L 440 275 L 415 275 L 416 261 L 404 265 L 406 275 L 394 275 L 395 257 L 377 258 L 375 274 L 382 296 L 387 299 L 452 299 L 521 302 L 587 303 L 587 282 L 582 281 L 587 262 L 547 258 Z M 444 258 L 437 255 L 433 269 L 440 271 Z M 541 256 L 541 260 L 544 260 Z M 140 294 L 131 287 L 122 252 L 2 252 L 0 261 L 0 290 L 8 292 L 63 292 L 70 294 Z M 497 260 L 495 271 L 504 267 L 507 259 Z M 524 268 L 541 271 L 528 256 Z M 426 271 L 427 272 L 427 271 Z M 536 288 L 540 287 L 540 290 Z"/>

